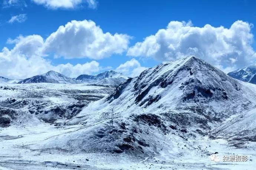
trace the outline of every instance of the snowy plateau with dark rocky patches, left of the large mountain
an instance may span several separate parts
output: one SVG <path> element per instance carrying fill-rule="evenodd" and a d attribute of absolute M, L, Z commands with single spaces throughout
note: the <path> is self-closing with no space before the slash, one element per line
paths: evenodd
<path fill-rule="evenodd" d="M 113 90 L 85 84 L 0 84 L 0 127 L 70 119 Z"/>

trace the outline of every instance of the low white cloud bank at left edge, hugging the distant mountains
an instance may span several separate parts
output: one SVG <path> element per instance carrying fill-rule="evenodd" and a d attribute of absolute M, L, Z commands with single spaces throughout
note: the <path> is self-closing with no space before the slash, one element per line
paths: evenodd
<path fill-rule="evenodd" d="M 50 70 L 55 70 L 66 76 L 76 77 L 80 74 L 92 74 L 93 72 L 98 72 L 101 68 L 99 63 L 96 61 L 86 62 L 84 64 L 59 64 L 52 65 L 52 63 L 37 55 L 37 52 L 33 53 L 32 49 L 36 49 L 30 43 L 22 43 L 25 39 L 29 39 L 30 42 L 35 42 L 31 40 L 33 38 L 37 39 L 38 35 L 33 35 L 33 37 L 22 37 L 17 40 L 12 40 L 17 42 L 12 50 L 4 47 L 2 52 L 0 52 L 0 75 L 7 78 L 28 78 L 34 75 L 43 74 Z M 39 38 L 40 39 L 40 38 Z M 9 40 L 11 41 L 11 40 Z M 19 51 L 20 50 L 20 51 Z"/>

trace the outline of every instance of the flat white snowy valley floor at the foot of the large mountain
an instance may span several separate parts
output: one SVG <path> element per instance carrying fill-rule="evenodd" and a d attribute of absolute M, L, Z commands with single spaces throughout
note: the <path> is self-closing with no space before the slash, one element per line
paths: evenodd
<path fill-rule="evenodd" d="M 247 143 L 247 149 L 237 149 L 227 145 L 225 140 L 211 140 L 201 137 L 177 143 L 175 149 L 182 148 L 179 157 L 173 157 L 173 149 L 163 150 L 158 156 L 139 159 L 136 156 L 118 154 L 78 153 L 48 148 L 40 149 L 40 143 L 61 134 L 69 134 L 88 126 L 73 125 L 65 127 L 17 126 L 0 131 L 0 169 L 250 169 L 256 166 L 256 143 Z M 173 139 L 175 140 L 175 139 Z M 30 149 L 30 145 L 38 148 Z M 194 147 L 195 149 L 191 149 Z M 218 152 L 219 163 L 210 160 L 209 154 Z M 247 155 L 247 162 L 223 162 L 224 155 Z"/>

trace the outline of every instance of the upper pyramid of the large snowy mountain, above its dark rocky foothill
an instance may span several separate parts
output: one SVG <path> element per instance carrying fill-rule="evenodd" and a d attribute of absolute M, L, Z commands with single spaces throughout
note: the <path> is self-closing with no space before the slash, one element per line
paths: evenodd
<path fill-rule="evenodd" d="M 189 56 L 145 70 L 86 110 L 101 113 L 114 108 L 122 113 L 135 110 L 163 113 L 199 107 L 211 116 L 222 118 L 250 109 L 255 103 L 254 94 L 219 69 Z"/>

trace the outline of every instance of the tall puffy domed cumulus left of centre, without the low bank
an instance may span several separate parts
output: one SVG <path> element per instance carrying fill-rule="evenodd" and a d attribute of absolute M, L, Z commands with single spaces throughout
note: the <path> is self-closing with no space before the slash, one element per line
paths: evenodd
<path fill-rule="evenodd" d="M 91 20 L 73 20 L 46 39 L 44 52 L 56 57 L 102 59 L 126 51 L 129 38 L 125 34 L 104 33 Z"/>

